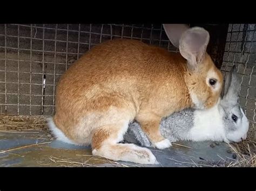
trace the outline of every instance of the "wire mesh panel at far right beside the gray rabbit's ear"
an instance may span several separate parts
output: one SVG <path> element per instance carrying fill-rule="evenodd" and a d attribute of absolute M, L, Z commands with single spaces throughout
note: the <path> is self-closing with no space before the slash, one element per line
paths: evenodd
<path fill-rule="evenodd" d="M 241 79 L 239 102 L 255 130 L 256 100 L 256 24 L 230 24 L 221 71 L 226 73 L 233 65 L 238 67 Z"/>

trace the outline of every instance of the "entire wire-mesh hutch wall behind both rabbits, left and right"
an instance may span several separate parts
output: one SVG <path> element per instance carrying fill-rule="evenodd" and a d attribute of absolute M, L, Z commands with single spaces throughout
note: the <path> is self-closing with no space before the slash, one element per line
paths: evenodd
<path fill-rule="evenodd" d="M 207 52 L 223 74 L 241 79 L 240 104 L 255 139 L 256 25 L 190 24 L 210 32 Z M 1 24 L 1 114 L 52 116 L 59 77 L 93 46 L 114 38 L 138 39 L 178 51 L 161 24 Z"/>

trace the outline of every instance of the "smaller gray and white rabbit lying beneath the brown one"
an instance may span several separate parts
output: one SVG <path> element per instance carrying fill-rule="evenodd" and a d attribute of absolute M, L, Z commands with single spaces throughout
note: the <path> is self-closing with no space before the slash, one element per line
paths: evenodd
<path fill-rule="evenodd" d="M 240 82 L 233 66 L 226 77 L 224 95 L 207 110 L 184 109 L 162 119 L 160 132 L 170 142 L 179 140 L 240 142 L 246 139 L 249 123 L 239 103 Z M 152 147 L 137 122 L 129 125 L 124 141 Z"/>

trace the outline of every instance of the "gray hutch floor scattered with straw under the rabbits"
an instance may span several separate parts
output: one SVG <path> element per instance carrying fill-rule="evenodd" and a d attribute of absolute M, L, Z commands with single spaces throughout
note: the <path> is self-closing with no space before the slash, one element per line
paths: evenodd
<path fill-rule="evenodd" d="M 173 143 L 165 150 L 150 148 L 159 165 L 139 165 L 92 156 L 91 148 L 69 145 L 51 137 L 43 117 L 1 117 L 1 167 L 189 167 L 225 166 L 237 157 L 216 142 Z"/>

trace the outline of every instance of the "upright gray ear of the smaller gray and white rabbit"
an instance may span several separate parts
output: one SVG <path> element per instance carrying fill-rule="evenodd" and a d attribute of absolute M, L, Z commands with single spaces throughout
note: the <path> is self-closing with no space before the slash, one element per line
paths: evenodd
<path fill-rule="evenodd" d="M 228 73 L 224 86 L 225 92 L 223 100 L 228 103 L 237 104 L 241 84 L 237 75 L 237 68 L 235 66 L 233 66 L 231 71 Z"/>

